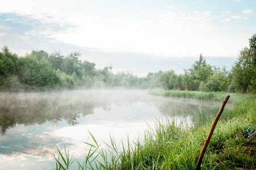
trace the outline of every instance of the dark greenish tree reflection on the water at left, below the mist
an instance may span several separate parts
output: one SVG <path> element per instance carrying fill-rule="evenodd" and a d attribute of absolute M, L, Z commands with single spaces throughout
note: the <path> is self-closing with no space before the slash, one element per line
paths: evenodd
<path fill-rule="evenodd" d="M 0 101 L 1 102 L 1 101 Z M 51 122 L 58 124 L 66 121 L 68 125 L 79 124 L 77 119 L 81 116 L 93 114 L 94 105 L 88 101 L 72 102 L 57 100 L 15 100 L 6 105 L 5 101 L 0 104 L 0 132 L 4 135 L 7 129 L 15 125 L 31 126 Z"/>

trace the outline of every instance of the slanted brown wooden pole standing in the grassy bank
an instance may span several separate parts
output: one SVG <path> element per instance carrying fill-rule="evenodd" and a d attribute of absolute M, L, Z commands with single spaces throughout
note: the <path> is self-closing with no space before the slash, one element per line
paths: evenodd
<path fill-rule="evenodd" d="M 227 103 L 228 100 L 229 100 L 229 97 L 230 97 L 230 96 L 226 96 L 225 100 L 223 101 L 223 103 L 222 103 L 222 105 L 221 105 L 221 107 L 220 107 L 220 111 L 218 111 L 218 114 L 217 114 L 217 116 L 216 116 L 216 118 L 215 118 L 215 120 L 214 120 L 214 122 L 213 122 L 212 128 L 210 128 L 208 137 L 207 137 L 207 139 L 206 139 L 205 142 L 204 142 L 203 149 L 202 149 L 201 154 L 200 154 L 200 156 L 199 156 L 199 159 L 198 159 L 198 161 L 197 161 L 196 170 L 198 170 L 198 169 L 201 168 L 200 166 L 201 166 L 202 160 L 203 160 L 203 158 L 204 158 L 204 153 L 205 153 L 205 151 L 206 151 L 206 149 L 207 149 L 208 143 L 210 142 L 210 138 L 212 137 L 213 131 L 214 131 L 216 125 L 217 125 L 218 119 L 220 118 L 221 113 L 222 113 L 222 111 L 224 110 L 224 107 L 225 107 L 226 103 Z"/>

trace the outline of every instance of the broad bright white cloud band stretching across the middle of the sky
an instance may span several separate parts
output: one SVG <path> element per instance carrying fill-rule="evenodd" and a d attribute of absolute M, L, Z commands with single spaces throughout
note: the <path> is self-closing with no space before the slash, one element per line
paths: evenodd
<path fill-rule="evenodd" d="M 185 13 L 172 11 L 172 8 L 169 10 L 153 12 L 151 15 L 154 17 L 143 19 L 64 13 L 47 9 L 40 12 L 20 11 L 9 17 L 14 18 L 13 21 L 5 21 L 5 28 L 9 29 L 11 39 L 19 37 L 27 40 L 26 45 L 30 43 L 31 48 L 35 48 L 35 45 L 44 47 L 46 43 L 42 42 L 47 40 L 102 52 L 139 53 L 164 58 L 198 56 L 200 49 L 213 46 L 204 43 L 209 39 L 213 39 L 210 43 L 217 43 L 219 46 L 217 41 L 214 42 L 217 28 L 213 26 L 213 21 L 218 18 L 212 16 L 213 11 Z M 16 29 L 19 25 L 20 29 Z M 15 31 L 16 36 L 11 33 Z M 18 43 L 5 37 L 5 42 L 8 41 L 9 44 Z M 35 39 L 38 43 L 33 44 Z M 210 53 L 219 56 L 216 50 L 211 50 Z"/>

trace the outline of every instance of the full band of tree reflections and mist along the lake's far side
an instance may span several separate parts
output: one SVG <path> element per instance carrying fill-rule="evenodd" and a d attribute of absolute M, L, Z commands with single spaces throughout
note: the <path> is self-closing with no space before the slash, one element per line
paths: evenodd
<path fill-rule="evenodd" d="M 184 101 L 183 101 L 184 100 Z M 0 95 L 0 132 L 16 125 L 31 126 L 50 122 L 53 125 L 66 121 L 68 125 L 79 124 L 82 116 L 93 114 L 94 108 L 110 111 L 112 105 L 129 107 L 143 102 L 157 107 L 164 115 L 191 117 L 195 122 L 202 118 L 200 100 L 175 97 L 148 96 L 146 92 L 134 90 L 91 90 L 48 93 L 16 93 Z M 139 113 L 138 113 L 139 114 Z"/>

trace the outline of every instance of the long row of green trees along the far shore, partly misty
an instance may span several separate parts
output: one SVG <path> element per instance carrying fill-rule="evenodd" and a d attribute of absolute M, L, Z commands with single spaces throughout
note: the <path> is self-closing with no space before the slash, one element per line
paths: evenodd
<path fill-rule="evenodd" d="M 112 73 L 112 66 L 96 69 L 95 63 L 81 61 L 80 52 L 64 56 L 60 50 L 51 54 L 32 50 L 18 57 L 7 46 L 0 52 L 0 90 L 31 91 L 77 88 L 125 87 L 163 88 L 164 90 L 200 90 L 256 92 L 256 34 L 249 47 L 240 51 L 232 69 L 217 68 L 200 54 L 183 74 L 174 70 L 148 73 L 139 78 L 129 71 Z"/>

